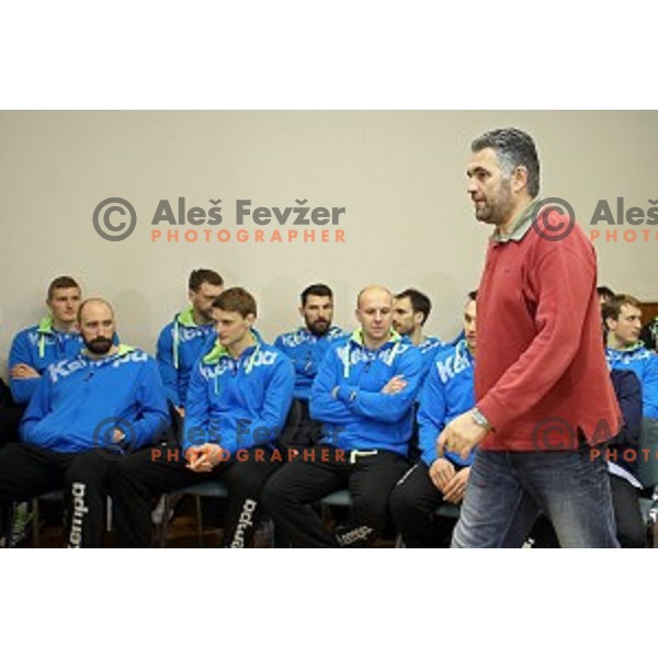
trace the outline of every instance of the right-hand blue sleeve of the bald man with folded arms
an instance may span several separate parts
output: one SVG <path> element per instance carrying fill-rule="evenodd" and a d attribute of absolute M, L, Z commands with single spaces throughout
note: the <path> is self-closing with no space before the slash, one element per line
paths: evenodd
<path fill-rule="evenodd" d="M 399 393 L 388 394 L 362 390 L 358 386 L 341 384 L 338 398 L 359 416 L 384 422 L 397 422 L 409 411 L 416 400 L 422 375 L 422 359 L 411 348 L 396 359 L 395 375 L 401 375 L 407 386 Z M 390 375 L 394 376 L 393 374 Z"/>

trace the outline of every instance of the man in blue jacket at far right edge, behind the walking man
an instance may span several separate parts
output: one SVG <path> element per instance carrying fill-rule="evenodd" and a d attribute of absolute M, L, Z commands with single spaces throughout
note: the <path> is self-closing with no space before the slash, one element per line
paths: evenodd
<path fill-rule="evenodd" d="M 644 416 L 658 418 L 658 355 L 639 342 L 642 309 L 631 295 L 614 295 L 601 309 L 605 356 L 612 370 L 631 370 L 639 379 Z"/>

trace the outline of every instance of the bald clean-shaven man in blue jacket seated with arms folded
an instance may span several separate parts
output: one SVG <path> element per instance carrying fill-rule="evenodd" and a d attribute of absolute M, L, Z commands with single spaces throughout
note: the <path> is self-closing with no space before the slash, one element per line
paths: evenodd
<path fill-rule="evenodd" d="M 296 546 L 372 544 L 387 525 L 390 490 L 408 467 L 420 353 L 393 331 L 386 288 L 361 291 L 356 318 L 361 328 L 329 349 L 313 384 L 310 417 L 324 423 L 324 438 L 263 491 L 265 509 Z M 309 503 L 343 487 L 353 503 L 344 525 L 330 533 Z"/>

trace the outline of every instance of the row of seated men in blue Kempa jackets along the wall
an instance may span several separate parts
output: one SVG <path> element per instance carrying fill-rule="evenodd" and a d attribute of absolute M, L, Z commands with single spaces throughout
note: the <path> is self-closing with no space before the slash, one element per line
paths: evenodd
<path fill-rule="evenodd" d="M 462 500 L 473 456 L 439 455 L 435 442 L 446 422 L 474 407 L 475 294 L 463 337 L 446 345 L 422 334 L 430 302 L 417 291 L 394 298 L 384 287 L 364 288 L 359 328 L 347 334 L 332 326 L 330 288 L 318 284 L 302 294 L 305 326 L 269 345 L 253 328 L 253 297 L 223 286 L 215 272 L 192 273 L 191 306 L 162 330 L 157 367 L 118 342 L 109 304 L 80 305 L 75 281 L 56 280 L 52 317 L 12 345 L 12 393 L 31 401 L 23 442 L 0 452 L 0 501 L 64 484 L 69 545 L 95 546 L 110 494 L 120 545 L 148 546 L 154 499 L 219 478 L 229 489 L 227 546 L 249 545 L 263 506 L 298 546 L 370 545 L 389 511 L 407 546 L 432 545 L 432 511 Z M 625 333 L 624 314 L 636 300 L 624 299 L 606 318 L 614 340 L 635 330 Z M 609 359 L 612 367 L 637 368 L 651 415 L 656 356 L 624 361 L 617 352 L 635 350 L 613 344 Z M 294 457 L 277 443 L 293 398 L 302 411 Z M 409 468 L 417 405 L 420 460 Z M 636 491 L 626 465 L 614 466 Z M 328 532 L 308 503 L 342 487 L 353 504 Z"/>

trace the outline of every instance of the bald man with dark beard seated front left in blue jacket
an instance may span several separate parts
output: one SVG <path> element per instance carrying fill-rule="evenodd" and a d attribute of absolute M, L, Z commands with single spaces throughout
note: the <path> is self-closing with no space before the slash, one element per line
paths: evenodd
<path fill-rule="evenodd" d="M 22 443 L 0 451 L 0 502 L 64 488 L 68 545 L 98 546 L 109 474 L 131 451 L 167 429 L 156 362 L 115 345 L 114 313 L 103 299 L 78 310 L 86 349 L 50 364 L 25 410 Z"/>

